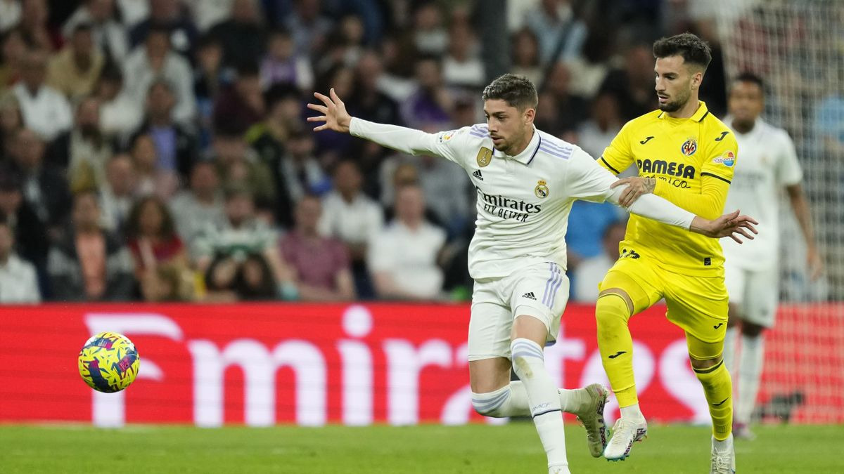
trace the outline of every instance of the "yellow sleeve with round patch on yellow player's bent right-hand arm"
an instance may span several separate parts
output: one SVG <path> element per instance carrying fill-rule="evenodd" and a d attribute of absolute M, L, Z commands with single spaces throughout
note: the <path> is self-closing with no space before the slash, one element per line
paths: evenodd
<path fill-rule="evenodd" d="M 724 212 L 736 159 L 738 159 L 738 143 L 730 134 L 721 142 L 716 143 L 706 154 L 704 163 L 701 165 L 700 194 L 671 186 L 663 180 L 657 180 L 653 193 L 701 218 L 718 218 Z"/>

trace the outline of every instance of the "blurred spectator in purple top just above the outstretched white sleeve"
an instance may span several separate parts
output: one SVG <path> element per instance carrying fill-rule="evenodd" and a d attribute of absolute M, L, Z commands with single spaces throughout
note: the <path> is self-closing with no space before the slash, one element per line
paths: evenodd
<path fill-rule="evenodd" d="M 416 81 L 416 92 L 402 106 L 403 122 L 408 127 L 421 130 L 447 129 L 452 94 L 443 83 L 442 67 L 437 57 L 422 57 L 416 62 Z"/>

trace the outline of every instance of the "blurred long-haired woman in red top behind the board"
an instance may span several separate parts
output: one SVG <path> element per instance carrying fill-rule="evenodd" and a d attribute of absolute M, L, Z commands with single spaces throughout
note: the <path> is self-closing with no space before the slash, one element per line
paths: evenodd
<path fill-rule="evenodd" d="M 126 235 L 144 300 L 192 299 L 193 273 L 187 266 L 185 245 L 164 202 L 157 197 L 136 202 L 129 213 Z"/>

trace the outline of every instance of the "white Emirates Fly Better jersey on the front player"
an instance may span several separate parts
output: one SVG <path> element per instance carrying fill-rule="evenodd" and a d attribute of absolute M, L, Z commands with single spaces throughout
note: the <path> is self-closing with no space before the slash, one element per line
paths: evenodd
<path fill-rule="evenodd" d="M 362 122 L 354 119 L 351 132 L 360 136 L 360 127 Z M 485 124 L 430 137 L 425 147 L 462 166 L 478 192 L 468 255 L 469 274 L 475 279 L 505 277 L 543 261 L 565 268 L 571 203 L 603 202 L 617 180 L 581 148 L 536 128 L 516 156 L 495 150 Z"/>

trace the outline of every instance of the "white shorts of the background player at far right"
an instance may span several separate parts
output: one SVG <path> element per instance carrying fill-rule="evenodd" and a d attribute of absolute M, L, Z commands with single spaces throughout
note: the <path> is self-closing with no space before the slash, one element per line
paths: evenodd
<path fill-rule="evenodd" d="M 780 297 L 779 270 L 747 270 L 736 265 L 724 264 L 724 284 L 730 303 L 737 304 L 741 319 L 759 326 L 774 326 L 776 305 Z"/>

